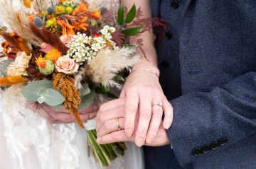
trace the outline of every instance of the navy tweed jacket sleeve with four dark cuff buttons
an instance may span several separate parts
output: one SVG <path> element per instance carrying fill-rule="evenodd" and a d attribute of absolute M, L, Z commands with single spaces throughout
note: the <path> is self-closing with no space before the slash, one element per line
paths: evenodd
<path fill-rule="evenodd" d="M 195 148 L 228 139 L 209 156 L 256 132 L 256 73 L 239 76 L 208 93 L 182 95 L 171 105 L 174 122 L 167 134 L 179 163 L 186 166 L 198 158 L 193 155 Z"/>

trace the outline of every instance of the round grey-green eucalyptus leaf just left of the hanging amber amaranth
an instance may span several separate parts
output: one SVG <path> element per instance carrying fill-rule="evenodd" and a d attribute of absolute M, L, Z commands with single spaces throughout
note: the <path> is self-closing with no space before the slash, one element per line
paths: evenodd
<path fill-rule="evenodd" d="M 58 93 L 58 91 L 53 90 L 52 88 L 46 89 L 46 94 L 44 95 L 44 97 L 46 98 L 45 102 L 50 106 L 60 105 L 65 100 L 63 98 L 63 95 Z"/>

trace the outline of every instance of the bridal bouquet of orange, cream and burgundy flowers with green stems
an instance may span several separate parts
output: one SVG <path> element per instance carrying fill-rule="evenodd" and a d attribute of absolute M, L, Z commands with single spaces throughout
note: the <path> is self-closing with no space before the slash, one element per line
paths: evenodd
<path fill-rule="evenodd" d="M 1 0 L 0 18 L 4 41 L 0 63 L 0 85 L 23 83 L 23 96 L 32 102 L 47 103 L 56 110 L 65 106 L 80 127 L 87 129 L 88 145 L 102 166 L 124 155 L 124 143 L 99 145 L 95 129 L 80 120 L 78 109 L 93 103 L 95 93 L 113 97 L 110 88 L 121 88 L 122 76 L 139 62 L 137 46 L 128 38 L 143 26 L 128 27 L 136 6 L 117 16 L 103 8 L 90 9 L 86 1 Z"/>

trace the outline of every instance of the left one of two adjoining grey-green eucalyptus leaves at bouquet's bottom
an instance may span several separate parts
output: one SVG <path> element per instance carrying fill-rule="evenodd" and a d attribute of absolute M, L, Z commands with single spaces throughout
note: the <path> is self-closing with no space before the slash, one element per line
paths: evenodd
<path fill-rule="evenodd" d="M 41 90 L 42 89 L 45 89 L 45 88 L 42 88 L 42 87 L 38 87 L 38 86 L 31 86 L 31 87 L 28 87 L 28 88 L 25 88 L 22 93 L 23 93 L 23 96 L 28 99 L 29 101 L 31 102 L 37 102 L 38 101 L 38 98 L 41 97 Z"/>

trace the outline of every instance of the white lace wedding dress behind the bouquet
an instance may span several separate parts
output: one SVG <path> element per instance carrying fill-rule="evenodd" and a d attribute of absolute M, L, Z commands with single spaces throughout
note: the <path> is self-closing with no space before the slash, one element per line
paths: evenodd
<path fill-rule="evenodd" d="M 113 0 L 90 1 L 95 6 L 106 8 L 116 8 L 119 3 Z M 6 111 L 6 107 L 11 107 L 11 110 Z M 142 148 L 131 142 L 126 144 L 128 149 L 124 157 L 117 158 L 107 168 L 144 168 Z M 21 91 L 9 95 L 0 89 L 1 169 L 102 168 L 92 156 L 87 156 L 87 149 L 86 132 L 77 124 L 48 124 L 26 107 Z"/>

